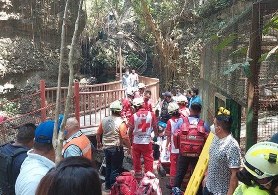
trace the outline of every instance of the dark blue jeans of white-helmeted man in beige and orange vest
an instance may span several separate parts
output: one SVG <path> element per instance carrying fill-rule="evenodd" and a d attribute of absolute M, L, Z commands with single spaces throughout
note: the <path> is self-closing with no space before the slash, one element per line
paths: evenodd
<path fill-rule="evenodd" d="M 123 148 L 115 146 L 112 148 L 104 149 L 106 159 L 105 169 L 105 186 L 111 187 L 116 181 L 116 177 L 121 173 L 123 162 Z"/>

